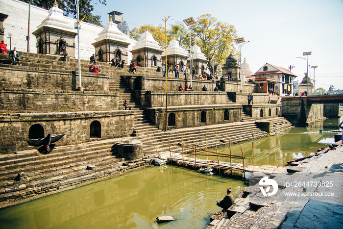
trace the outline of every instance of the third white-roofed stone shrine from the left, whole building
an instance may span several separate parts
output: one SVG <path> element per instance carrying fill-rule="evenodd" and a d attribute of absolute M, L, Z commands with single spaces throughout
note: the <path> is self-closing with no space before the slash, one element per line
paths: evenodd
<path fill-rule="evenodd" d="M 131 52 L 136 66 L 157 68 L 162 65 L 163 50 L 148 30 L 142 33 L 141 38 L 132 46 Z"/>

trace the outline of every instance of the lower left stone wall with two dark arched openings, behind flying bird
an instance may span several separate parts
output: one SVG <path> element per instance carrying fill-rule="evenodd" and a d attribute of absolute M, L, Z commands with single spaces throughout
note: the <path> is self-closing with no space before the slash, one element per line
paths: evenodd
<path fill-rule="evenodd" d="M 90 126 L 93 121 L 100 124 L 100 137 L 91 138 Z M 130 136 L 133 133 L 134 112 L 95 111 L 95 112 L 60 112 L 31 113 L 0 116 L 0 153 L 12 153 L 32 149 L 26 143 L 32 125 L 41 125 L 44 136 L 48 133 L 57 135 L 67 133 L 56 146 L 89 142 L 92 140 L 112 139 Z M 36 147 L 37 148 L 37 147 Z M 34 149 L 36 149 L 34 148 Z"/>

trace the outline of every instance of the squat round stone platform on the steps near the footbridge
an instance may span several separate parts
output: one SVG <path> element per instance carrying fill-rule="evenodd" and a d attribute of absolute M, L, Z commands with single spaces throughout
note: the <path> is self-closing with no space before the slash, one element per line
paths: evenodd
<path fill-rule="evenodd" d="M 125 160 L 136 160 L 143 157 L 143 143 L 137 139 L 125 138 L 116 143 L 117 153 Z"/>

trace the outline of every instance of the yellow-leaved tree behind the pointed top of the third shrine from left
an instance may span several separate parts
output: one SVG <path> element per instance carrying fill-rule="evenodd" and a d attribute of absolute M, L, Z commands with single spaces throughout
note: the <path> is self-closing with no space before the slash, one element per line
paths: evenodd
<path fill-rule="evenodd" d="M 166 35 L 165 35 L 165 28 L 161 24 L 155 27 L 154 25 L 141 25 L 139 28 L 134 27 L 130 31 L 130 38 L 138 41 L 141 38 L 141 34 L 144 33 L 146 30 L 148 30 L 152 37 L 159 43 L 159 45 L 162 47 L 162 49 L 165 49 L 166 44 Z M 167 37 L 167 44 L 170 42 L 170 38 Z"/>

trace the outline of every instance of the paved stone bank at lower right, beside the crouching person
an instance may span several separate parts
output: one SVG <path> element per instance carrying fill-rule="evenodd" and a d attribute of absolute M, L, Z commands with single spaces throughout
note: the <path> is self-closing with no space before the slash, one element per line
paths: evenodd
<path fill-rule="evenodd" d="M 333 148 L 332 148 L 333 149 Z M 286 173 L 266 173 L 278 184 L 275 195 L 264 196 L 258 181 L 246 188 L 228 209 L 227 216 L 213 215 L 212 223 L 205 229 L 263 229 L 263 228 L 342 228 L 343 199 L 343 145 L 329 148 L 294 166 Z M 297 173 L 295 173 L 297 172 Z M 307 185 L 308 181 L 332 182 L 333 187 Z M 301 185 L 294 185 L 297 182 Z M 293 185 L 287 185 L 293 184 Z M 334 198 L 305 195 L 304 193 L 334 192 Z M 300 193 L 298 196 L 286 193 Z"/>

